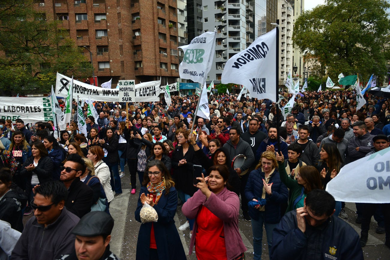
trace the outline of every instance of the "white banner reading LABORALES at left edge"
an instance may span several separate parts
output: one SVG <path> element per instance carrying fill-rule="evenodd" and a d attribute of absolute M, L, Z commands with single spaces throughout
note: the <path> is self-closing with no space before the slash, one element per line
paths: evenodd
<path fill-rule="evenodd" d="M 53 120 L 51 97 L 0 97 L 0 118 L 27 123 Z"/>

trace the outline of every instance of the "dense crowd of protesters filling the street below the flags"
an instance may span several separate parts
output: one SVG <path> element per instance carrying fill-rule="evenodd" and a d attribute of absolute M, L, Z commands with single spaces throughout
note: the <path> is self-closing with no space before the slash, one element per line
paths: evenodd
<path fill-rule="evenodd" d="M 280 94 L 279 107 L 291 97 Z M 344 165 L 389 147 L 389 100 L 367 94 L 356 110 L 354 91 L 297 96 L 285 117 L 268 99 L 210 96 L 209 119 L 194 115 L 197 96 L 172 96 L 169 106 L 163 98 L 129 103 L 128 110 L 95 101 L 96 119 L 73 101 L 73 112 L 83 106 L 87 136 L 76 113 L 59 133 L 53 121 L 0 119 L 0 220 L 22 232 L 13 233 L 13 251 L 1 249 L 10 259 L 73 259 L 76 245 L 79 257 L 83 235 L 74 229 L 91 211 L 109 216 L 126 167 L 131 195 L 140 191 L 135 219 L 145 203 L 158 214 L 140 227 L 137 259 L 186 259 L 174 225 L 180 205 L 187 221 L 178 229 L 190 230 L 198 259 L 244 259 L 239 219 L 251 222 L 255 260 L 263 226 L 273 259 L 317 259 L 329 246 L 343 248 L 332 257 L 363 259 L 372 216 L 390 247 L 390 204 L 356 203 L 359 237 L 338 218 L 348 217 L 345 203 L 324 191 Z M 23 226 L 23 215 L 32 213 Z M 99 257 L 108 252 L 110 232 L 98 233 L 106 250 Z"/>

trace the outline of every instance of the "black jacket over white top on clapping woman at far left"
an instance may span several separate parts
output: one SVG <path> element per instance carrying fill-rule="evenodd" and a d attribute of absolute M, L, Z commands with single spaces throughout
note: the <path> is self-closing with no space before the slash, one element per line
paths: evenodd
<path fill-rule="evenodd" d="M 20 175 L 27 178 L 27 183 L 31 183 L 32 173 L 38 175 L 39 183 L 42 184 L 53 179 L 53 160 L 48 156 L 43 156 L 38 161 L 37 167 L 29 172 L 25 167 L 34 164 L 34 156 L 27 158 L 20 171 Z"/>

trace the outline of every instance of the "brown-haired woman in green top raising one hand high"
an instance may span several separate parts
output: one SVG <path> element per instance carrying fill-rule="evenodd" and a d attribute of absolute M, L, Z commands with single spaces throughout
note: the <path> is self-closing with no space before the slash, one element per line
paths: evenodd
<path fill-rule="evenodd" d="M 284 156 L 279 152 L 276 154 L 276 159 L 279 164 L 280 180 L 290 189 L 289 203 L 286 213 L 303 207 L 306 195 L 313 189 L 322 189 L 320 173 L 314 166 L 302 166 L 299 168 L 299 173 L 296 173 L 296 179 L 291 179 L 287 175 L 284 167 Z"/>

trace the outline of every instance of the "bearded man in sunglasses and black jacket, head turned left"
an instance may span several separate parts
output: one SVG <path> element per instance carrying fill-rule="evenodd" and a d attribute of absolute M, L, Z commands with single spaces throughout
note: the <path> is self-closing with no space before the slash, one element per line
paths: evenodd
<path fill-rule="evenodd" d="M 82 218 L 91 211 L 92 189 L 80 180 L 80 175 L 85 172 L 85 163 L 78 154 L 69 154 L 64 166 L 60 167 L 60 180 L 68 190 L 68 197 L 65 201 L 67 210 Z"/>

